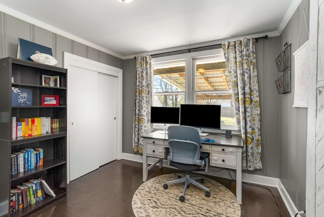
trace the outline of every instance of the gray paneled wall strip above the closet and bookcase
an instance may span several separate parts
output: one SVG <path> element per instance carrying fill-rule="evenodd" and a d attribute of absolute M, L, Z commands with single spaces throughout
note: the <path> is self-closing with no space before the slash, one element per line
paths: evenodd
<path fill-rule="evenodd" d="M 11 15 L 0 12 L 0 58 L 16 57 L 18 38 L 35 42 L 52 48 L 53 56 L 57 59 L 56 66 L 63 67 L 63 52 L 82 56 L 117 68 L 123 68 L 123 60 L 110 54 L 80 44 L 35 26 Z"/>

